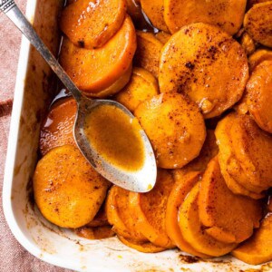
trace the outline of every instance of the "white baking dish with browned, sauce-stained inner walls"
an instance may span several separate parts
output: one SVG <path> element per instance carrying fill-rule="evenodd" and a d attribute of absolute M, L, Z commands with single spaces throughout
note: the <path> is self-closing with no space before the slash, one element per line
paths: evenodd
<path fill-rule="evenodd" d="M 62 1 L 29 0 L 26 15 L 51 49 L 56 50 L 57 14 Z M 78 271 L 238 271 L 269 270 L 234 258 L 209 261 L 185 257 L 179 250 L 143 254 L 117 238 L 87 240 L 47 222 L 29 200 L 29 180 L 37 160 L 41 117 L 46 110 L 50 69 L 23 38 L 15 86 L 15 102 L 5 166 L 3 204 L 15 238 L 35 257 Z M 271 266 L 270 266 L 271 267 Z"/>

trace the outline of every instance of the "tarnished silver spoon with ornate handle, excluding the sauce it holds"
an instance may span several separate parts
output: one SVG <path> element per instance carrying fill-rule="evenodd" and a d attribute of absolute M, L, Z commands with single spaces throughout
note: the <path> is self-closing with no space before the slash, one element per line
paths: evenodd
<path fill-rule="evenodd" d="M 118 102 L 110 100 L 91 100 L 83 96 L 82 92 L 75 86 L 67 73 L 63 71 L 62 66 L 56 61 L 53 54 L 35 33 L 33 26 L 24 17 L 18 6 L 15 4 L 15 1 L 0 0 L 0 10 L 13 21 L 30 43 L 34 45 L 36 50 L 41 53 L 44 60 L 50 65 L 53 72 L 57 74 L 67 89 L 72 92 L 73 97 L 77 102 L 77 116 L 73 127 L 73 136 L 78 148 L 82 151 L 85 158 L 91 162 L 92 167 L 107 180 L 112 181 L 112 183 L 124 189 L 136 192 L 147 192 L 151 190 L 156 182 L 157 167 L 151 142 L 143 130 L 140 129 L 139 132 L 144 147 L 145 160 L 141 169 L 136 171 L 121 170 L 102 158 L 102 156 L 92 148 L 92 144 L 88 141 L 84 133 L 85 117 L 92 114 L 92 110 L 97 106 L 110 105 L 112 107 L 117 107 L 132 119 L 134 116 L 131 112 Z"/>

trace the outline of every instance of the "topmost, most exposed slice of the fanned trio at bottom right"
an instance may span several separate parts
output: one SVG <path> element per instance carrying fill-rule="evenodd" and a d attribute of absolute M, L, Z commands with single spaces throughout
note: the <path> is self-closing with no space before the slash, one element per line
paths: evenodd
<path fill-rule="evenodd" d="M 216 228 L 217 238 L 226 243 L 240 243 L 259 226 L 262 205 L 255 199 L 235 195 L 221 175 L 218 157 L 209 162 L 199 190 L 199 219 L 209 228 Z M 220 235 L 220 232 L 223 235 Z M 210 233 L 209 233 L 210 234 Z"/>

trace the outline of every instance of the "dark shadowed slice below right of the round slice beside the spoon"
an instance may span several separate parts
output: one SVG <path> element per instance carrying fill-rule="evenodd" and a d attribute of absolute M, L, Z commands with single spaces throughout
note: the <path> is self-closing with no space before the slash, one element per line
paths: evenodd
<path fill-rule="evenodd" d="M 207 168 L 209 160 L 214 158 L 219 153 L 219 146 L 217 145 L 214 131 L 207 130 L 207 137 L 204 141 L 203 147 L 199 156 L 191 160 L 187 165 L 182 167 L 180 173 L 188 173 L 190 171 L 204 171 Z"/>

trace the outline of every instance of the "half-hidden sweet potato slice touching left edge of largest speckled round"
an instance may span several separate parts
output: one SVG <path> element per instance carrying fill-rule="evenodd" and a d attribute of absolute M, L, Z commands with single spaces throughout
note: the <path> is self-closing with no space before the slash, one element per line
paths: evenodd
<path fill-rule="evenodd" d="M 156 39 L 154 34 L 137 31 L 137 50 L 134 64 L 148 70 L 157 78 L 162 46 L 163 44 Z"/>

